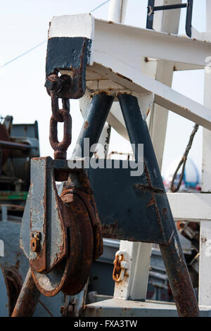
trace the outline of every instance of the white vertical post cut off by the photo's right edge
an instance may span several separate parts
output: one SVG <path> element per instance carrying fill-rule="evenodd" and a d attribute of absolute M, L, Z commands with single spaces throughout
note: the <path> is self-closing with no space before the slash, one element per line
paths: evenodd
<path fill-rule="evenodd" d="M 211 31 L 211 1 L 207 0 L 207 31 Z M 211 108 L 211 74 L 205 73 L 204 104 Z M 211 132 L 203 129 L 202 191 L 211 192 Z M 199 305 L 211 306 L 211 222 L 200 222 Z"/>

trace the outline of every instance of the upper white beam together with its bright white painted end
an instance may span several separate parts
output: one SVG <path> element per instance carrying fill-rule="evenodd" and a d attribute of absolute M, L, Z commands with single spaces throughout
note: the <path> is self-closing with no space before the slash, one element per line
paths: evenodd
<path fill-rule="evenodd" d="M 53 17 L 49 28 L 49 38 L 52 37 L 87 37 L 94 40 L 92 51 L 106 51 L 127 63 L 132 61 L 137 68 L 140 68 L 141 56 L 203 68 L 205 58 L 210 56 L 211 45 L 165 32 L 97 20 L 90 14 Z M 136 51 L 132 52 L 132 49 Z"/>

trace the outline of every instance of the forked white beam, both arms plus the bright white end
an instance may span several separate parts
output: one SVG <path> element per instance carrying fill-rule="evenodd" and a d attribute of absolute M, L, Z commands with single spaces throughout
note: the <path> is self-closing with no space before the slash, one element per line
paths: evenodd
<path fill-rule="evenodd" d="M 79 32 L 83 35 L 86 30 L 84 35 L 94 40 L 90 65 L 87 67 L 89 80 L 113 80 L 122 85 L 123 91 L 128 89 L 139 95 L 154 93 L 156 104 L 211 129 L 210 109 L 141 73 L 140 61 L 141 55 L 146 54 L 170 61 L 204 65 L 205 57 L 210 55 L 210 43 L 95 20 L 88 14 L 79 15 L 79 19 L 75 16 L 53 18 L 49 37 L 73 36 L 75 30 L 79 36 Z"/>

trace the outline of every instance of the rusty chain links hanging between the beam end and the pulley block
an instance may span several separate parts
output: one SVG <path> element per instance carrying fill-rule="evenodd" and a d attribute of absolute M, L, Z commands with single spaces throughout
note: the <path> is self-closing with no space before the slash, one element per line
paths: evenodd
<path fill-rule="evenodd" d="M 54 158 L 65 159 L 72 140 L 72 118 L 70 115 L 70 101 L 67 97 L 71 87 L 71 78 L 69 75 L 59 77 L 58 73 L 53 73 L 47 77 L 46 87 L 51 96 L 52 110 L 49 141 L 54 151 Z M 59 109 L 58 106 L 59 98 L 62 99 L 62 109 Z M 58 141 L 58 122 L 64 123 L 62 142 Z"/>

